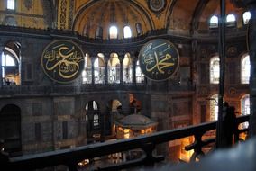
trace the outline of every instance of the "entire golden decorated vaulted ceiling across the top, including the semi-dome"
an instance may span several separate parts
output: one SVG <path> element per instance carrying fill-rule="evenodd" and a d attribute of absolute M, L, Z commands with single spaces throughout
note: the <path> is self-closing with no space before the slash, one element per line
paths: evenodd
<path fill-rule="evenodd" d="M 241 2 L 226 0 L 226 14 L 236 16 L 238 28 L 242 27 L 242 13 L 245 11 Z M 111 25 L 117 27 L 118 39 L 123 39 L 126 25 L 131 28 L 132 37 L 136 37 L 136 23 L 141 24 L 141 34 L 166 29 L 190 35 L 208 29 L 209 18 L 220 13 L 219 3 L 217 0 L 23 0 L 16 1 L 15 13 L 11 13 L 6 10 L 6 2 L 1 1 L 0 22 L 78 31 L 89 38 L 96 38 L 96 30 L 101 28 L 102 39 L 109 38 Z"/>

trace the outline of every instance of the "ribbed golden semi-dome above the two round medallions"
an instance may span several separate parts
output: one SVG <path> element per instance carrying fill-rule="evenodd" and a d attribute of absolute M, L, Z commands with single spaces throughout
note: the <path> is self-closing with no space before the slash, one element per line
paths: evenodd
<path fill-rule="evenodd" d="M 102 38 L 108 39 L 108 29 L 115 25 L 118 39 L 123 39 L 123 27 L 126 25 L 131 28 L 132 37 L 137 36 L 136 23 L 141 24 L 142 34 L 154 29 L 150 14 L 133 1 L 99 0 L 80 8 L 73 27 L 90 38 L 96 38 L 96 30 L 102 28 Z"/>

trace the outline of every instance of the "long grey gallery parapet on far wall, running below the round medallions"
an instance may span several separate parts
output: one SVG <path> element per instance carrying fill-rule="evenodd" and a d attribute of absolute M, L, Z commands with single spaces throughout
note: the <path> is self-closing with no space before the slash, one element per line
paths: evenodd
<path fill-rule="evenodd" d="M 105 92 L 105 91 L 193 91 L 192 85 L 133 85 L 133 84 L 107 84 L 107 85 L 4 85 L 0 88 L 0 95 L 29 95 L 29 94 L 83 94 L 88 92 Z"/>

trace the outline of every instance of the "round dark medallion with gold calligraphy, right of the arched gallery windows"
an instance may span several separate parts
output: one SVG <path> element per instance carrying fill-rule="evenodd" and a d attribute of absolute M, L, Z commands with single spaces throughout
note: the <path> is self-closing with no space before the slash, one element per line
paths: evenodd
<path fill-rule="evenodd" d="M 168 40 L 151 40 L 142 47 L 139 62 L 145 76 L 155 81 L 165 80 L 178 69 L 178 50 Z"/>

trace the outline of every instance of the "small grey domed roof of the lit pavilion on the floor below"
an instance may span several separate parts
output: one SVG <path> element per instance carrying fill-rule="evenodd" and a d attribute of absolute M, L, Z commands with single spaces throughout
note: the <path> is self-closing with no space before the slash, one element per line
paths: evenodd
<path fill-rule="evenodd" d="M 141 115 L 141 114 L 131 114 L 125 116 L 123 119 L 116 121 L 117 125 L 122 126 L 123 128 L 148 128 L 151 126 L 156 126 L 158 122 L 152 121 L 150 118 Z"/>

